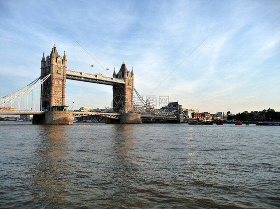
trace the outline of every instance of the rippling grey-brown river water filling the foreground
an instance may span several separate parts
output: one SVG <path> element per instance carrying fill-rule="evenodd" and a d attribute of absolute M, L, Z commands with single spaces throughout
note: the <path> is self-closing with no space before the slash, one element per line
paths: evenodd
<path fill-rule="evenodd" d="M 280 127 L 0 122 L 0 208 L 277 209 Z"/>

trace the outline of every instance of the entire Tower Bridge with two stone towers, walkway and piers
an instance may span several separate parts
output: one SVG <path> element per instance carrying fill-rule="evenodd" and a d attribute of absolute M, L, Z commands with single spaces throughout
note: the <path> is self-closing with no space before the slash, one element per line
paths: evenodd
<path fill-rule="evenodd" d="M 113 111 L 114 113 L 94 113 L 94 112 L 72 112 L 67 111 L 65 104 L 66 80 L 78 80 L 83 82 L 99 83 L 111 85 L 113 87 Z M 4 105 L 11 103 L 15 99 L 20 99 L 22 95 L 27 94 L 41 85 L 40 111 L 20 111 L 5 110 Z M 140 97 L 134 87 L 134 71 L 127 70 L 123 62 L 120 70 L 116 73 L 114 69 L 113 77 L 103 76 L 100 73 L 91 74 L 76 70 L 67 70 L 67 58 L 64 50 L 63 58 L 58 54 L 55 44 L 50 55 L 41 60 L 41 75 L 38 79 L 28 84 L 17 92 L 9 94 L 0 99 L 2 111 L 0 114 L 32 114 L 33 124 L 73 124 L 72 119 L 85 115 L 97 115 L 105 117 L 108 122 L 116 123 L 142 123 L 141 119 L 148 120 L 173 120 L 179 121 L 180 113 L 169 115 L 156 115 L 136 113 L 134 111 L 134 91 Z M 143 99 L 140 97 L 140 100 Z M 34 101 L 35 102 L 35 101 Z M 19 102 L 20 103 L 20 102 Z M 28 103 L 28 102 L 27 102 Z M 145 105 L 145 102 L 142 101 Z"/>

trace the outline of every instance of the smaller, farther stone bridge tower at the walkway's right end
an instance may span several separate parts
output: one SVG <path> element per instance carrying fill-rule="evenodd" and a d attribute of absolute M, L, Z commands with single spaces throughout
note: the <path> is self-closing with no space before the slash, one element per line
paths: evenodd
<path fill-rule="evenodd" d="M 134 93 L 134 72 L 133 69 L 128 71 L 125 62 L 114 78 L 125 80 L 125 84 L 113 86 L 113 110 L 116 113 L 129 113 L 133 111 L 133 93 Z"/>

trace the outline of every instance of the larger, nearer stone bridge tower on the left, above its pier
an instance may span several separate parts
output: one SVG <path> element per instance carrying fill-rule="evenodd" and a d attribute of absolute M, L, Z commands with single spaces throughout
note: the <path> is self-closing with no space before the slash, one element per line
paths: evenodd
<path fill-rule="evenodd" d="M 41 108 L 45 111 L 62 110 L 65 106 L 67 59 L 64 50 L 63 58 L 56 50 L 55 44 L 47 60 L 43 54 L 41 61 L 41 78 L 51 73 L 50 77 L 41 85 Z M 59 107 L 60 108 L 59 108 Z M 54 107 L 57 107 L 54 109 Z"/>

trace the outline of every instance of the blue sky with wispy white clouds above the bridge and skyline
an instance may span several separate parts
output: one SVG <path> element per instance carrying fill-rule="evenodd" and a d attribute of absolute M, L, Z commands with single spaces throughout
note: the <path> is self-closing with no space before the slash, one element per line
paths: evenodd
<path fill-rule="evenodd" d="M 69 70 L 109 76 L 75 40 L 111 75 L 123 60 L 133 67 L 157 107 L 169 96 L 201 112 L 280 111 L 279 0 L 0 0 L 0 97 L 40 76 L 54 41 Z M 111 106 L 112 95 L 66 81 L 74 109 Z"/>

